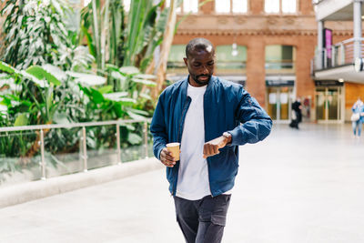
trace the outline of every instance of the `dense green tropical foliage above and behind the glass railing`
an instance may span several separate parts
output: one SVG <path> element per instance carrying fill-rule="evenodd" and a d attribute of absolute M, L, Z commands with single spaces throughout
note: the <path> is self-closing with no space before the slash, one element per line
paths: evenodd
<path fill-rule="evenodd" d="M 66 0 L 9 0 L 0 53 L 0 127 L 142 119 L 157 46 L 169 8 L 164 0 L 92 0 L 80 11 Z M 103 3 L 103 5 L 101 5 Z M 150 72 L 149 72 L 150 73 Z M 142 142 L 138 125 L 121 127 L 121 146 Z M 115 147 L 115 130 L 87 129 L 87 147 Z M 44 130 L 47 161 L 79 149 L 79 129 Z M 0 134 L 0 173 L 38 163 L 39 133 Z M 13 157 L 9 159 L 9 157 Z"/>

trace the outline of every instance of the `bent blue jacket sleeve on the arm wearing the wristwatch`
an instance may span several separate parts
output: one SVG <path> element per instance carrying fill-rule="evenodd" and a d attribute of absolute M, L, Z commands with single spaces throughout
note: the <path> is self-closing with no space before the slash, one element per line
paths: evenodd
<path fill-rule="evenodd" d="M 232 135 L 230 146 L 254 144 L 269 135 L 272 128 L 271 118 L 259 106 L 258 101 L 243 88 L 239 91 L 239 103 L 235 116 L 240 122 L 240 126 L 227 131 Z"/>

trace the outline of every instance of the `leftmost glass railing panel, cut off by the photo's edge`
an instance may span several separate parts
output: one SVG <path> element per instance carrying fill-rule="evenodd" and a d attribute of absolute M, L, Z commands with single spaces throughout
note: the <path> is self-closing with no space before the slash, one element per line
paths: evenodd
<path fill-rule="evenodd" d="M 0 133 L 0 186 L 42 177 L 39 131 Z"/>

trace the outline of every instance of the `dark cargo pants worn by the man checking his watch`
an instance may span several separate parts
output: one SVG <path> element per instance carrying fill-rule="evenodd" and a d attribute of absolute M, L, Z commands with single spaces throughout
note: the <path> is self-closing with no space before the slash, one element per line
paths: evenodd
<path fill-rule="evenodd" d="M 219 243 L 231 195 L 187 200 L 174 197 L 179 228 L 187 243 Z"/>

